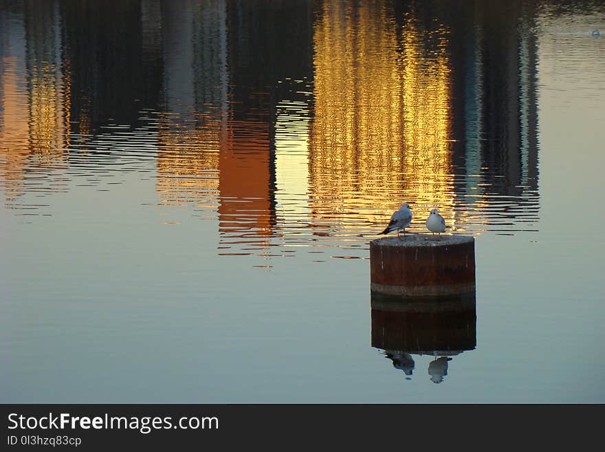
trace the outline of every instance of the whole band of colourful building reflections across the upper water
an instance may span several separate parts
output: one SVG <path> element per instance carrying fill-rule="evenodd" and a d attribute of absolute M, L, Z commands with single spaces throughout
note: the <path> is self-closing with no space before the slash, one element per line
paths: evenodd
<path fill-rule="evenodd" d="M 220 255 L 364 257 L 402 200 L 417 229 L 438 206 L 459 233 L 537 230 L 537 12 L 515 5 L 9 3 L 4 204 L 52 215 L 32 197 L 137 171 L 217 219 Z"/>

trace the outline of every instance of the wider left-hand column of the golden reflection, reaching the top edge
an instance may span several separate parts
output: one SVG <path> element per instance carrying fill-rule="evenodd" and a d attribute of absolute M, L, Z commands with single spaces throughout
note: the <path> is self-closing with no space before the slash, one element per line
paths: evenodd
<path fill-rule="evenodd" d="M 314 222 L 330 221 L 335 230 L 354 233 L 356 225 L 347 224 L 347 215 L 373 217 L 375 200 L 384 199 L 385 190 L 404 189 L 404 96 L 397 45 L 393 11 L 384 2 L 322 3 L 314 25 L 309 136 Z"/>

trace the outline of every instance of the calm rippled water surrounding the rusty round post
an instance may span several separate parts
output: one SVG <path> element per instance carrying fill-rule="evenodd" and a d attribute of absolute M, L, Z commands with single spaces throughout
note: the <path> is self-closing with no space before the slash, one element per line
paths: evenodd
<path fill-rule="evenodd" d="M 0 400 L 604 402 L 604 12 L 3 2 Z M 373 346 L 402 202 L 463 343 Z"/>

